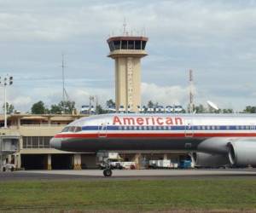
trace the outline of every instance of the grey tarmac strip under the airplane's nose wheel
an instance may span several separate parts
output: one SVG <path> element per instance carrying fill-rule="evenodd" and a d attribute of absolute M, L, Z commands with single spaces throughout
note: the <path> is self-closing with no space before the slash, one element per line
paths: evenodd
<path fill-rule="evenodd" d="M 136 180 L 136 179 L 205 179 L 255 178 L 256 169 L 226 170 L 113 170 L 112 177 L 104 177 L 102 170 L 24 170 L 0 172 L 0 181 L 26 180 Z"/>

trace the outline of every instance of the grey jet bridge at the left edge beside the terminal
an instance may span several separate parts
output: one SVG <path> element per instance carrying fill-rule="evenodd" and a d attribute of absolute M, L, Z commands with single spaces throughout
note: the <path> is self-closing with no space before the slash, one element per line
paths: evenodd
<path fill-rule="evenodd" d="M 19 135 L 0 135 L 0 171 L 3 171 L 3 162 L 9 154 L 20 152 Z"/>

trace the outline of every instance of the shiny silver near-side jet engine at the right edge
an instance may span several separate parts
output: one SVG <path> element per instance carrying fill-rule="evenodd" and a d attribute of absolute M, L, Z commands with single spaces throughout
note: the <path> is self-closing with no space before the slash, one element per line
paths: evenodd
<path fill-rule="evenodd" d="M 228 143 L 231 165 L 256 167 L 256 141 L 232 141 Z"/>

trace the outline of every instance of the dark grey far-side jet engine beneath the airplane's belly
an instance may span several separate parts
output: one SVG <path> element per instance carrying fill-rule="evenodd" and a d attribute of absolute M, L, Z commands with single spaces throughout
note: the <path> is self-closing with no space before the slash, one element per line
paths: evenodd
<path fill-rule="evenodd" d="M 190 156 L 196 167 L 218 168 L 230 164 L 227 154 L 192 153 Z"/>

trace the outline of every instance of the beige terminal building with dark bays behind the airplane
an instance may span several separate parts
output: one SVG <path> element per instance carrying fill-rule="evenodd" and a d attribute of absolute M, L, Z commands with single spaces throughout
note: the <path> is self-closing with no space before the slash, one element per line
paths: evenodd
<path fill-rule="evenodd" d="M 8 129 L 0 129 L 0 137 L 15 135 L 20 140 L 20 152 L 9 155 L 6 163 L 15 164 L 24 170 L 81 170 L 98 168 L 96 153 L 69 153 L 49 146 L 49 140 L 67 124 L 87 115 L 33 115 L 13 114 L 8 117 Z M 4 118 L 0 115 L 0 124 Z M 119 156 L 133 161 L 137 168 L 146 168 L 150 159 L 180 161 L 185 153 L 167 151 L 136 152 L 122 151 Z"/>

